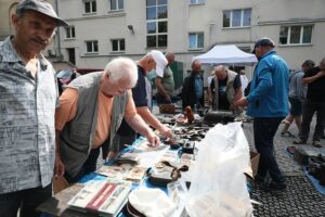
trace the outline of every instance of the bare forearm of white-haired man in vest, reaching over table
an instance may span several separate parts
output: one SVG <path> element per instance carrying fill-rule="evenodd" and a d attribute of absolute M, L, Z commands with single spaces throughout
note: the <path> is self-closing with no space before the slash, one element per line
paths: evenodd
<path fill-rule="evenodd" d="M 159 138 L 156 137 L 153 130 L 145 124 L 145 122 L 139 114 L 125 118 L 127 123 L 132 127 L 132 129 L 146 137 L 146 139 L 153 146 L 159 145 Z"/>

